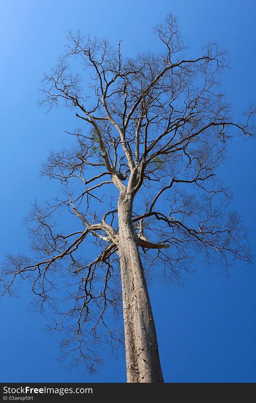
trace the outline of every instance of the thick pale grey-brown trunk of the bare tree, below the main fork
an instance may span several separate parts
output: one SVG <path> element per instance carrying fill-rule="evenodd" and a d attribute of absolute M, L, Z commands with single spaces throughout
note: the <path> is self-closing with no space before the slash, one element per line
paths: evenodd
<path fill-rule="evenodd" d="M 137 235 L 132 224 L 133 197 L 118 198 L 120 268 L 123 292 L 127 382 L 164 382 L 155 323 Z"/>

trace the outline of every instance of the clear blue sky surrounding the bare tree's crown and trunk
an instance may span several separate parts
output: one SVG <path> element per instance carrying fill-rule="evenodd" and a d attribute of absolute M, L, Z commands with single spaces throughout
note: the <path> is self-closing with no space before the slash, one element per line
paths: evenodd
<path fill-rule="evenodd" d="M 0 261 L 4 253 L 29 250 L 23 217 L 35 198 L 54 194 L 54 186 L 39 178 L 40 166 L 51 150 L 67 144 L 65 130 L 77 125 L 70 110 L 45 115 L 36 105 L 40 79 L 57 62 L 67 31 L 80 29 L 114 44 L 123 39 L 131 56 L 157 52 L 151 27 L 170 11 L 195 56 L 206 42 L 229 50 L 233 69 L 224 75 L 224 91 L 240 117 L 256 103 L 254 1 L 1 1 Z M 252 246 L 255 155 L 255 141 L 235 139 L 221 172 L 237 200 L 233 208 L 251 229 Z M 238 262 L 230 278 L 218 267 L 196 269 L 183 288 L 155 283 L 149 290 L 165 381 L 255 382 L 255 264 Z M 106 357 L 96 375 L 67 372 L 57 361 L 57 334 L 42 331 L 47 320 L 27 310 L 32 298 L 27 290 L 0 302 L 0 382 L 126 382 L 122 352 L 118 359 Z"/>

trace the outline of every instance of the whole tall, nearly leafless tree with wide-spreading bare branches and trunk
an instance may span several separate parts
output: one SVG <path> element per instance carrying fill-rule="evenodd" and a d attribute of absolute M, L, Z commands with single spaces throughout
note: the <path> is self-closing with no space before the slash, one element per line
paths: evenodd
<path fill-rule="evenodd" d="M 43 207 L 36 202 L 27 217 L 35 255 L 8 255 L 2 270 L 2 293 L 15 291 L 19 278 L 30 280 L 36 307 L 56 311 L 52 328 L 69 331 L 62 347 L 71 365 L 82 361 L 90 372 L 103 343 L 123 343 L 109 319 L 118 322 L 122 312 L 128 382 L 163 382 L 148 273 L 159 268 L 179 281 L 193 253 L 224 271 L 233 259 L 252 260 L 217 173 L 233 130 L 255 135 L 255 109 L 244 123 L 233 121 L 219 91 L 225 50 L 207 44 L 200 57 L 185 57 L 172 15 L 155 33 L 162 53 L 136 59 L 122 57 L 121 43 L 69 34 L 67 52 L 42 81 L 41 105 L 63 101 L 85 130 L 69 133 L 75 145 L 52 152 L 42 168 L 61 182 L 65 197 Z M 86 89 L 67 64 L 73 59 L 90 73 Z M 57 229 L 67 212 L 68 233 Z M 94 249 L 82 250 L 92 239 L 96 258 Z M 54 287 L 66 293 L 60 307 Z"/>

